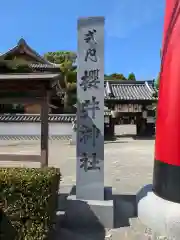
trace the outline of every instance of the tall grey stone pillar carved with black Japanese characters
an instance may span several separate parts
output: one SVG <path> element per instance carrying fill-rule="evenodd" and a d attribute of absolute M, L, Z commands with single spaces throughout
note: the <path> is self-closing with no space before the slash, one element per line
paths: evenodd
<path fill-rule="evenodd" d="M 104 18 L 78 20 L 76 195 L 104 200 Z"/>

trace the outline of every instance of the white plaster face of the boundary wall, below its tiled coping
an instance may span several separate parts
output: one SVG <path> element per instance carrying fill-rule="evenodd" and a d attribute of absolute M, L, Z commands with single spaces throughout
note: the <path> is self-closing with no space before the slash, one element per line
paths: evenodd
<path fill-rule="evenodd" d="M 40 135 L 40 123 L 0 123 L 0 135 Z M 72 135 L 71 123 L 49 123 L 49 136 Z"/>

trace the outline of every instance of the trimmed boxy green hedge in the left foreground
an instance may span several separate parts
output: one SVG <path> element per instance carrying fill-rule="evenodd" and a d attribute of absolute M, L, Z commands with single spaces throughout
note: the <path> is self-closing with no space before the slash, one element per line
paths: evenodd
<path fill-rule="evenodd" d="M 47 239 L 59 181 L 60 172 L 55 168 L 1 168 L 0 239 Z"/>

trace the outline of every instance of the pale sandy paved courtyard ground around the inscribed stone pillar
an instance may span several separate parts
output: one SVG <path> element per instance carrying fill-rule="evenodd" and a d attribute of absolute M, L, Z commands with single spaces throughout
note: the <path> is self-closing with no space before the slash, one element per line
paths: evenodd
<path fill-rule="evenodd" d="M 116 129 L 118 135 L 135 132 L 134 126 L 123 126 Z M 62 172 L 61 184 L 75 184 L 75 146 L 67 141 L 51 141 L 49 165 L 59 167 Z M 1 141 L 1 152 L 37 153 L 39 144 L 31 142 Z M 135 195 L 145 184 L 152 182 L 154 140 L 134 140 L 129 136 L 119 137 L 114 142 L 105 143 L 105 185 L 112 186 L 114 194 Z M 28 166 L 38 167 L 37 163 L 5 163 L 1 166 Z M 122 209 L 121 209 L 122 210 Z M 119 213 L 123 216 L 123 212 Z M 122 219 L 114 230 L 105 230 L 91 234 L 67 229 L 66 227 L 57 234 L 56 239 L 69 240 L 148 240 L 149 235 L 144 233 L 146 229 L 137 219 L 131 219 L 131 227 L 122 222 Z M 122 227 L 124 225 L 124 227 Z M 106 237 L 106 238 L 105 238 Z"/>

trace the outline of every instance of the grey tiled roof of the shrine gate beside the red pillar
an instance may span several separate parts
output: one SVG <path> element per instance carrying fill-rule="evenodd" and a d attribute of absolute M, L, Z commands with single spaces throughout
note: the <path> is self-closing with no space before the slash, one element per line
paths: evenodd
<path fill-rule="evenodd" d="M 105 99 L 109 100 L 153 100 L 153 81 L 106 81 Z"/>

